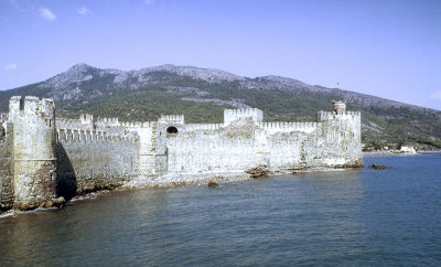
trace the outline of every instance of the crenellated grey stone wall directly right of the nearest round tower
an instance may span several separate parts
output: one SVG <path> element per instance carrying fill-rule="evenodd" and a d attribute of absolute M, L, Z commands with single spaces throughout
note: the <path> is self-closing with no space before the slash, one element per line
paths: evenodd
<path fill-rule="evenodd" d="M 108 189 L 138 175 L 139 141 L 135 135 L 58 129 L 56 159 L 60 193 Z"/>

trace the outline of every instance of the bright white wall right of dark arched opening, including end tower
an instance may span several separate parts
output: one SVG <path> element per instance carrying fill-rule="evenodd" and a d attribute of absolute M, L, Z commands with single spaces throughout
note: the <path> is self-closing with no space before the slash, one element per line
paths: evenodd
<path fill-rule="evenodd" d="M 363 164 L 359 114 L 331 115 L 321 122 L 259 122 L 244 116 L 224 125 L 185 125 L 166 137 L 168 173 Z"/>

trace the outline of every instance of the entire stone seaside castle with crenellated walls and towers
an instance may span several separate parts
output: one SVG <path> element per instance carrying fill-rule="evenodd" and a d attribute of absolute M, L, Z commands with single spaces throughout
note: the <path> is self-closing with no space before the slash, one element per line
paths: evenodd
<path fill-rule="evenodd" d="M 12 97 L 0 127 L 0 211 L 53 206 L 75 194 L 147 177 L 363 167 L 361 114 L 334 102 L 315 122 L 263 122 L 257 108 L 223 124 L 118 118 L 55 119 L 52 99 Z"/>

